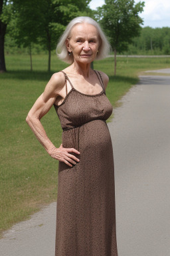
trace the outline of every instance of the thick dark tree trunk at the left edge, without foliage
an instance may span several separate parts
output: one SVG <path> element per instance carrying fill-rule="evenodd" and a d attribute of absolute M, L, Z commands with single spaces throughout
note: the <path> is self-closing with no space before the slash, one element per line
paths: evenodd
<path fill-rule="evenodd" d="M 7 69 L 5 67 L 5 32 L 7 29 L 7 24 L 0 21 L 0 73 L 6 72 Z"/>

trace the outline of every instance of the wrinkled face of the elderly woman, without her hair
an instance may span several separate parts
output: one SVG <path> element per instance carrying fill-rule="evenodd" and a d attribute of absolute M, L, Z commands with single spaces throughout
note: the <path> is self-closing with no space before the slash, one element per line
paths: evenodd
<path fill-rule="evenodd" d="M 66 39 L 66 47 L 73 54 L 74 61 L 91 63 L 96 58 L 100 39 L 96 27 L 88 23 L 75 25 L 69 39 Z"/>

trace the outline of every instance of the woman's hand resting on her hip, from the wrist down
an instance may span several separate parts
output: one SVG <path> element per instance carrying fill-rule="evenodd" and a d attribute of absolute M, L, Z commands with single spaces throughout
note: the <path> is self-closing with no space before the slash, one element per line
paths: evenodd
<path fill-rule="evenodd" d="M 52 158 L 57 159 L 58 161 L 62 161 L 64 163 L 66 163 L 66 165 L 72 167 L 73 165 L 76 165 L 76 163 L 78 163 L 80 160 L 70 153 L 76 153 L 76 154 L 80 155 L 80 152 L 77 151 L 76 149 L 62 147 L 62 144 L 58 148 L 53 147 L 48 152 L 48 154 Z"/>

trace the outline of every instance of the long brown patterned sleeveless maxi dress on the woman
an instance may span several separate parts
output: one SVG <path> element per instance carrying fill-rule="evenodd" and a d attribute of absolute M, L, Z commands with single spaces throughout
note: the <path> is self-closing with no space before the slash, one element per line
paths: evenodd
<path fill-rule="evenodd" d="M 54 105 L 62 146 L 80 151 L 73 167 L 59 162 L 55 256 L 118 256 L 114 157 L 106 124 L 113 109 L 95 72 L 102 85 L 96 95 L 77 91 L 63 72 L 66 97 Z"/>

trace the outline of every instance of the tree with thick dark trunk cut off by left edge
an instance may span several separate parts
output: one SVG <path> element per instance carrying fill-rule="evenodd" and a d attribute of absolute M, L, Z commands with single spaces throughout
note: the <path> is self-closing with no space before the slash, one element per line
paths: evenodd
<path fill-rule="evenodd" d="M 4 43 L 7 24 L 11 17 L 11 1 L 0 0 L 0 73 L 6 72 Z"/>

